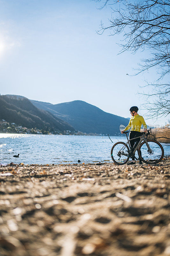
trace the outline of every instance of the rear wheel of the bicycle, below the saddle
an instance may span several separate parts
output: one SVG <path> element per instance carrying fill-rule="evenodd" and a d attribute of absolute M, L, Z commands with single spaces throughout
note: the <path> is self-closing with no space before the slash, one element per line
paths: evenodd
<path fill-rule="evenodd" d="M 115 164 L 126 164 L 129 160 L 129 148 L 124 142 L 117 142 L 111 149 L 111 158 Z"/>

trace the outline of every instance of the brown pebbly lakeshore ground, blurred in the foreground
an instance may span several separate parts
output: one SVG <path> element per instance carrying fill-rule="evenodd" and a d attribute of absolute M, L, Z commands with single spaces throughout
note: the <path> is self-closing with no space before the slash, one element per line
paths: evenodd
<path fill-rule="evenodd" d="M 169 178 L 169 158 L 2 166 L 0 255 L 170 255 Z"/>

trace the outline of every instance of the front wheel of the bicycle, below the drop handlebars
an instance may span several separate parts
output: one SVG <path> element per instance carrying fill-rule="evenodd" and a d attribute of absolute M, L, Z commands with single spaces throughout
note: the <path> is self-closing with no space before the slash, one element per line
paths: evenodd
<path fill-rule="evenodd" d="M 146 145 L 146 142 L 143 141 L 138 148 L 139 158 L 145 164 L 157 164 L 164 157 L 164 149 L 162 145 L 155 140 L 147 140 L 147 143 L 152 152 L 149 151 L 149 148 Z M 141 150 L 141 151 L 140 151 Z"/>

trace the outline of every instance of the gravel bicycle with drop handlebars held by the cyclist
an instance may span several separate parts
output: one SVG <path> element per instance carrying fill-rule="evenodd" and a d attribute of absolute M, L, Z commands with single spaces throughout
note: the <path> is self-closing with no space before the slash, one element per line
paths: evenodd
<path fill-rule="evenodd" d="M 128 132 L 129 131 L 123 132 L 126 134 L 127 140 Z M 164 156 L 164 149 L 158 141 L 147 139 L 150 132 L 151 129 L 147 130 L 147 133 L 141 132 L 141 136 L 131 139 L 136 140 L 140 138 L 140 141 L 137 141 L 133 148 L 131 148 L 130 140 L 126 143 L 122 141 L 115 143 L 111 149 L 111 158 L 113 162 L 118 165 L 126 164 L 129 158 L 135 157 L 135 152 L 138 150 L 139 159 L 145 164 L 159 163 Z M 136 157 L 135 159 L 138 160 Z"/>

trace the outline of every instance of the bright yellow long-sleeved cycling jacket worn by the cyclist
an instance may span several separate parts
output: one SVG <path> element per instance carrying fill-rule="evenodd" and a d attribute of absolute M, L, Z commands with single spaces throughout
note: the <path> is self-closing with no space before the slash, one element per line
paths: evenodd
<path fill-rule="evenodd" d="M 132 116 L 128 126 L 124 129 L 124 131 L 127 131 L 131 127 L 131 131 L 140 132 L 141 125 L 143 124 L 144 128 L 147 129 L 145 120 L 143 116 L 139 116 L 138 114 L 136 116 Z"/>

